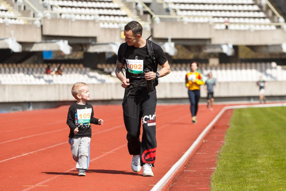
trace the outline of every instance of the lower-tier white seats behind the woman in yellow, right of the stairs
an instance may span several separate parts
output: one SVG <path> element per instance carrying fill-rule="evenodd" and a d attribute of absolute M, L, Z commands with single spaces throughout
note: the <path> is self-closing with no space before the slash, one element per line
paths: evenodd
<path fill-rule="evenodd" d="M 159 78 L 159 82 L 185 82 L 185 75 L 190 71 L 190 63 L 170 64 L 172 72 L 164 78 Z M 99 69 L 104 72 L 115 75 L 115 64 L 99 64 Z M 159 70 L 160 68 L 158 68 Z M 283 81 L 286 80 L 286 69 L 283 69 L 275 62 L 263 63 L 222 63 L 217 66 L 210 66 L 208 64 L 201 64 L 200 71 L 204 79 L 207 78 L 208 73 L 219 82 L 243 82 L 243 81 L 257 81 L 260 76 L 267 81 Z"/>

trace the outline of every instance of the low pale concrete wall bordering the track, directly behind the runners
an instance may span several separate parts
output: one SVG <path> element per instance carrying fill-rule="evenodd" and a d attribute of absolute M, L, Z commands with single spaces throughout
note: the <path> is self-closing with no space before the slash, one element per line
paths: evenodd
<path fill-rule="evenodd" d="M 0 85 L 0 102 L 75 101 L 72 85 Z M 158 99 L 187 98 L 184 83 L 159 83 Z M 120 83 L 89 84 L 91 100 L 121 100 L 124 89 Z M 259 88 L 255 82 L 219 82 L 215 97 L 257 97 Z M 286 81 L 266 83 L 266 96 L 285 96 Z M 204 87 L 201 97 L 206 97 Z"/>

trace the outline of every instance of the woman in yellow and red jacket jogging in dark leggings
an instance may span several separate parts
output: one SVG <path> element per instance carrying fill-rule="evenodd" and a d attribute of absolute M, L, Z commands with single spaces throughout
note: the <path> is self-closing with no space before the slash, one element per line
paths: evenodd
<path fill-rule="evenodd" d="M 198 103 L 200 100 L 200 86 L 204 84 L 203 77 L 198 70 L 199 63 L 192 62 L 191 71 L 186 75 L 186 87 L 188 88 L 188 94 L 190 99 L 190 109 L 192 114 L 192 122 L 197 123 L 197 111 Z"/>

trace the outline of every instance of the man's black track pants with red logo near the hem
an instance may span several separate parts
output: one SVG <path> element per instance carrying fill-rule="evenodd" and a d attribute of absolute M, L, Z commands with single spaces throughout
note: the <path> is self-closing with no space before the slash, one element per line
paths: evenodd
<path fill-rule="evenodd" d="M 154 166 L 156 156 L 156 94 L 144 97 L 124 97 L 123 118 L 127 130 L 129 154 L 141 155 L 141 166 L 145 163 Z M 142 141 L 140 141 L 141 118 L 143 124 Z"/>

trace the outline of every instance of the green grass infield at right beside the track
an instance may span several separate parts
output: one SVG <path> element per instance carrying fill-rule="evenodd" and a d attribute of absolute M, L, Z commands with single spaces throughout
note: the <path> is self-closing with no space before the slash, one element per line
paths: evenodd
<path fill-rule="evenodd" d="M 286 190 L 286 107 L 234 111 L 211 190 Z"/>

